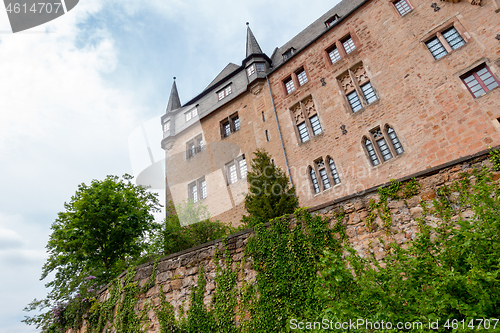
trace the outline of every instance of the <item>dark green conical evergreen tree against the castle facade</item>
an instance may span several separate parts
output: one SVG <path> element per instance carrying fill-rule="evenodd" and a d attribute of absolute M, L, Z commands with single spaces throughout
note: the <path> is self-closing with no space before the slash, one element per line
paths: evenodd
<path fill-rule="evenodd" d="M 298 207 L 295 188 L 290 187 L 283 170 L 271 162 L 265 150 L 257 149 L 254 155 L 252 170 L 247 175 L 250 193 L 245 198 L 245 208 L 250 215 L 243 217 L 248 226 L 292 214 Z"/>

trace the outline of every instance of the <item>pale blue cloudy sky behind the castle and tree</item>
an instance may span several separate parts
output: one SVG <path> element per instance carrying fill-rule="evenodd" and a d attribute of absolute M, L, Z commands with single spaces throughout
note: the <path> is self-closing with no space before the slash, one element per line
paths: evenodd
<path fill-rule="evenodd" d="M 141 128 L 161 158 L 174 76 L 187 102 L 241 64 L 246 22 L 270 56 L 337 2 L 81 0 L 15 34 L 0 7 L 0 333 L 36 332 L 23 308 L 47 294 L 50 226 L 78 184 L 140 172 Z"/>

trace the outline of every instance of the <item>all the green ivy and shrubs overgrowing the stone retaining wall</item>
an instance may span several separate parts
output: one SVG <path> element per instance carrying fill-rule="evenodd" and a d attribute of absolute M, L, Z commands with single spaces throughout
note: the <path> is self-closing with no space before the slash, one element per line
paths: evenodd
<path fill-rule="evenodd" d="M 390 230 L 389 200 L 406 202 L 419 189 L 415 179 L 404 184 L 393 180 L 379 189 L 379 200 L 370 202 L 364 221 L 368 229 L 380 217 Z M 316 329 L 321 331 L 325 321 L 358 319 L 420 322 L 420 331 L 432 332 L 487 329 L 484 320 L 479 326 L 480 320 L 500 317 L 500 186 L 492 181 L 491 170 L 483 168 L 461 174 L 455 183 L 437 188 L 436 194 L 432 202 L 421 202 L 419 232 L 412 241 L 398 245 L 381 240 L 385 257 L 380 261 L 350 246 L 343 209 L 329 218 L 299 209 L 293 221 L 285 215 L 269 224 L 256 223 L 236 268 L 227 247 L 216 253 L 215 290 L 209 303 L 204 263 L 199 264 L 189 307 L 184 311 L 181 305 L 177 318 L 162 291 L 157 306 L 144 303 L 141 296 L 154 285 L 156 265 L 142 288 L 133 280 L 134 270 L 129 270 L 123 281 L 115 280 L 108 288 L 107 300 L 89 299 L 88 331 L 141 332 L 149 309 L 161 332 L 287 332 L 301 321 L 321 323 Z M 172 230 L 179 230 L 178 220 L 170 219 Z M 384 237 L 390 240 L 392 235 Z M 257 272 L 255 281 L 243 280 L 247 258 Z M 94 282 L 86 283 L 88 288 Z M 51 326 L 52 331 L 81 323 L 70 324 L 69 316 L 58 318 L 63 319 Z M 436 321 L 437 327 L 428 327 Z M 492 328 L 494 321 L 489 325 Z M 352 331 L 397 330 L 358 326 Z"/>

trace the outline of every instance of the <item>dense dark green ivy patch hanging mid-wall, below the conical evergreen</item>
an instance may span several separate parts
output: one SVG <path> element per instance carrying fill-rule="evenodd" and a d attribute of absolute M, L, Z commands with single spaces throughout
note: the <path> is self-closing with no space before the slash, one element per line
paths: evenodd
<path fill-rule="evenodd" d="M 330 229 L 327 220 L 305 210 L 296 211 L 295 219 L 292 230 L 287 217 L 272 220 L 269 227 L 257 225 L 248 240 L 245 251 L 258 272 L 255 293 L 247 297 L 249 330 L 286 331 L 291 318 L 315 318 L 322 309 L 318 263 L 324 249 L 339 250 L 334 236 L 342 227 Z"/>

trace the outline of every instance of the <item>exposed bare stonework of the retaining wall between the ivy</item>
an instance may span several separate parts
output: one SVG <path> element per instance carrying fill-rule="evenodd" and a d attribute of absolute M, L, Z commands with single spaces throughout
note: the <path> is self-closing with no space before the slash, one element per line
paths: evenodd
<path fill-rule="evenodd" d="M 479 154 L 479 156 L 462 158 L 453 163 L 414 175 L 414 178 L 420 184 L 418 194 L 407 199 L 388 200 L 388 208 L 392 216 L 391 232 L 386 232 L 384 223 L 380 217 L 377 217 L 371 223 L 371 230 L 367 227 L 366 217 L 370 213 L 369 202 L 370 200 L 379 201 L 379 194 L 376 188 L 335 200 L 319 207 L 310 208 L 309 211 L 331 217 L 331 223 L 333 224 L 336 222 L 333 216 L 343 209 L 345 217 L 342 223 L 346 225 L 346 232 L 351 245 L 362 255 L 373 252 L 377 259 L 381 259 L 384 256 L 383 243 L 397 242 L 398 244 L 403 244 L 415 237 L 418 230 L 416 219 L 422 216 L 421 201 L 426 201 L 432 211 L 432 199 L 436 197 L 436 190 L 439 187 L 451 184 L 454 180 L 459 179 L 460 175 L 464 172 L 472 174 L 474 167 L 481 167 L 483 165 L 491 165 L 491 162 L 487 159 L 487 155 L 484 153 Z M 408 181 L 410 178 L 412 176 L 406 177 L 401 181 Z M 495 172 L 494 180 L 498 180 L 498 178 L 500 178 L 500 172 Z M 461 214 L 468 217 L 472 215 L 472 212 L 463 211 Z M 437 218 L 432 216 L 428 216 L 427 219 L 430 222 L 434 219 L 437 221 Z M 241 262 L 247 238 L 251 233 L 252 230 L 250 229 L 229 236 L 227 246 L 231 254 L 233 268 L 236 268 L 236 265 Z M 147 302 L 158 305 L 158 295 L 161 289 L 163 289 L 167 301 L 174 306 L 176 315 L 178 315 L 181 306 L 187 309 L 190 291 L 197 283 L 197 273 L 200 264 L 203 264 L 205 267 L 207 278 L 205 303 L 208 304 L 215 290 L 214 255 L 217 249 L 224 251 L 222 240 L 213 241 L 162 258 L 157 266 L 155 284 L 146 294 L 141 295 L 137 304 L 137 310 L 142 310 Z M 150 262 L 137 268 L 135 280 L 139 281 L 141 287 L 148 283 L 153 272 L 153 266 L 154 263 Z M 251 261 L 246 260 L 243 272 L 239 276 L 240 281 L 238 285 L 241 284 L 241 280 L 254 280 L 255 276 L 256 272 L 251 269 Z M 124 277 L 125 273 L 122 274 L 122 278 Z M 109 297 L 109 291 L 106 289 L 101 291 L 100 301 L 105 300 L 107 297 Z M 154 311 L 151 310 L 148 316 L 150 323 L 147 331 L 158 332 L 159 325 Z M 81 331 L 84 332 L 85 327 Z"/>

